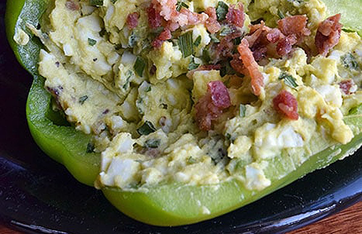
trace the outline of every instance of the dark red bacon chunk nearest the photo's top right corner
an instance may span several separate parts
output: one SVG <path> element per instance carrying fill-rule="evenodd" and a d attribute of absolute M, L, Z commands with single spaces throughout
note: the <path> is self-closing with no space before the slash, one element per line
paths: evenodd
<path fill-rule="evenodd" d="M 318 53 L 326 56 L 329 49 L 333 48 L 341 38 L 341 14 L 331 16 L 320 23 L 315 37 Z"/>

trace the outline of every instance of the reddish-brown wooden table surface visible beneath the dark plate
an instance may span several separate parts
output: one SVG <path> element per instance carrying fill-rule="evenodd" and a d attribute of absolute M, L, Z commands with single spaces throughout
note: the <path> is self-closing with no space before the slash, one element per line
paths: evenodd
<path fill-rule="evenodd" d="M 289 234 L 359 234 L 362 233 L 362 201 L 314 224 Z M 0 234 L 22 234 L 0 224 Z"/>

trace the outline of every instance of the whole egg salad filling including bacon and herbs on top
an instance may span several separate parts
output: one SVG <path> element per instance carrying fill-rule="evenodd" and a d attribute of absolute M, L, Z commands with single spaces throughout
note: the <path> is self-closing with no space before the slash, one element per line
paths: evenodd
<path fill-rule="evenodd" d="M 96 187 L 262 190 L 361 132 L 344 120 L 362 41 L 341 17 L 320 0 L 55 0 L 28 28 L 53 109 L 101 153 Z"/>

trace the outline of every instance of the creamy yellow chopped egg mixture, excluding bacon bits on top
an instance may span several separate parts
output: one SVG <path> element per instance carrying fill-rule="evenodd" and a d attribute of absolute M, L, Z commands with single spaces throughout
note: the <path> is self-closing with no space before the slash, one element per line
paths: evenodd
<path fill-rule="evenodd" d="M 261 13 L 271 27 L 279 19 L 278 10 L 287 16 L 306 14 L 311 35 L 304 44 L 313 47 L 317 26 L 327 17 L 318 0 L 249 2 L 241 1 L 247 12 L 240 28 L 243 35 Z M 218 6 L 218 1 L 187 3 L 195 12 Z M 225 3 L 232 7 L 236 1 Z M 249 190 L 262 190 L 271 184 L 273 160 L 292 160 L 283 169 L 287 174 L 316 153 L 315 145 L 346 144 L 361 131 L 352 132 L 343 121 L 343 114 L 362 102 L 361 56 L 348 57 L 349 63 L 358 65 L 355 69 L 346 62 L 349 53 L 362 51 L 356 33 L 342 32 L 327 57 L 308 58 L 296 48 L 282 58 L 270 58 L 258 68 L 264 86 L 257 97 L 250 77 L 235 71 L 225 74 L 223 63 L 221 68 L 190 69 L 210 65 L 218 56 L 205 51 L 214 50 L 214 43 L 219 43 L 215 40 L 223 36 L 215 39 L 204 24 L 181 27 L 160 48 L 152 48 L 156 30 L 148 27 L 149 4 L 104 0 L 102 6 L 92 6 L 81 1 L 77 11 L 67 9 L 66 0 L 56 0 L 47 27 L 51 31 L 43 32 L 49 38 L 32 30 L 48 48 L 41 51 L 39 63 L 45 88 L 68 121 L 93 136 L 89 144 L 101 152 L 97 186 L 134 190 L 164 182 L 201 185 L 235 178 Z M 130 29 L 127 16 L 134 12 L 139 14 L 138 25 Z M 185 57 L 177 37 L 189 31 L 194 51 Z M 28 41 L 21 30 L 15 37 L 18 44 Z M 355 85 L 350 89 L 353 94 L 345 95 L 339 84 L 348 79 Z M 212 81 L 226 85 L 231 107 L 205 132 L 195 123 L 194 107 Z M 273 108 L 273 98 L 281 90 L 295 96 L 298 120 L 287 120 Z M 200 209 L 210 213 L 205 206 Z"/>

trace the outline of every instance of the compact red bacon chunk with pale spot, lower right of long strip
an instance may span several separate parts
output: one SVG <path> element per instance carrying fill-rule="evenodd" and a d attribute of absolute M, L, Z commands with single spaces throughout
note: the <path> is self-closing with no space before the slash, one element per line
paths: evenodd
<path fill-rule="evenodd" d="M 273 106 L 281 115 L 291 120 L 298 120 L 298 102 L 293 94 L 282 90 L 273 98 Z"/>

